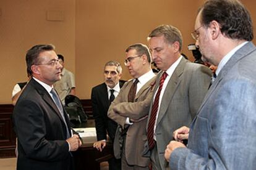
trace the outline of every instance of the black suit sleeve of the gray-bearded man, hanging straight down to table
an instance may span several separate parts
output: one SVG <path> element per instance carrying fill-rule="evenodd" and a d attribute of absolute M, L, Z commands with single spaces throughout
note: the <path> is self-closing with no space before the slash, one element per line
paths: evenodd
<path fill-rule="evenodd" d="M 96 134 L 97 140 L 106 139 L 106 124 L 103 115 L 100 113 L 100 105 L 98 92 L 95 88 L 92 89 L 92 107 L 93 107 L 93 118 L 95 119 L 95 127 L 96 127 Z"/>

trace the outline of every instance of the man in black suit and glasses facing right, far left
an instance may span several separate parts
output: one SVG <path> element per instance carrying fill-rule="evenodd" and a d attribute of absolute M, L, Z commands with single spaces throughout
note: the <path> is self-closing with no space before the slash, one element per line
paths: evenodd
<path fill-rule="evenodd" d="M 61 78 L 61 65 L 51 45 L 33 46 L 26 55 L 32 79 L 20 95 L 13 113 L 18 138 L 17 169 L 75 169 L 71 151 L 81 145 L 72 136 L 69 119 L 53 83 Z"/>

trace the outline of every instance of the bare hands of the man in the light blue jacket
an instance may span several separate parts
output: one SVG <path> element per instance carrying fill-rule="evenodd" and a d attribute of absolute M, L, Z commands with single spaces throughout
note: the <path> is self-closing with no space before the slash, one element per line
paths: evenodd
<path fill-rule="evenodd" d="M 166 150 L 164 152 L 164 158 L 169 162 L 169 158 L 171 156 L 171 153 L 176 148 L 180 147 L 186 147 L 184 144 L 182 144 L 182 140 L 189 138 L 189 127 L 182 126 L 176 131 L 173 132 L 173 138 L 174 140 L 171 140 L 169 144 L 166 146 Z"/>

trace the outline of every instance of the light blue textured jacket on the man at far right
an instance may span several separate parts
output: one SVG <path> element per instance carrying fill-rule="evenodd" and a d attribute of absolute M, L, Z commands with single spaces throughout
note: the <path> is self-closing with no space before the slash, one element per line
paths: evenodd
<path fill-rule="evenodd" d="M 171 169 L 255 169 L 255 65 L 252 42 L 224 65 L 190 126 L 188 148 L 171 154 Z"/>

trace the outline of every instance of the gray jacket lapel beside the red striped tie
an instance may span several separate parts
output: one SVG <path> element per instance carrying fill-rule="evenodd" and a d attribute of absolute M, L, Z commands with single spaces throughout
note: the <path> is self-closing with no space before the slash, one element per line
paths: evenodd
<path fill-rule="evenodd" d="M 173 75 L 169 79 L 169 82 L 168 82 L 166 89 L 163 93 L 163 97 L 161 99 L 161 105 L 160 105 L 160 110 L 158 113 L 158 118 L 157 118 L 156 124 L 158 124 L 161 121 L 161 119 L 163 118 L 163 116 L 166 113 L 166 110 L 169 107 L 169 103 L 173 99 L 176 89 L 179 86 L 179 83 L 181 82 L 180 77 L 183 73 L 186 62 L 187 62 L 186 59 L 182 59 L 181 62 L 179 63 L 179 65 L 177 65 L 177 68 L 174 70 Z"/>

